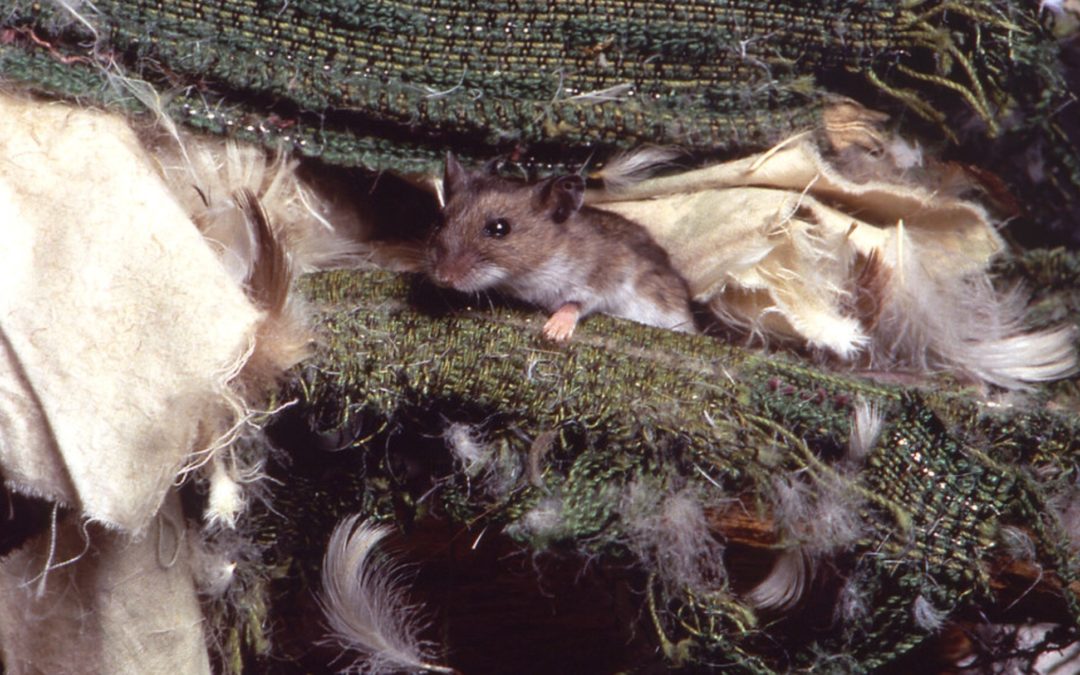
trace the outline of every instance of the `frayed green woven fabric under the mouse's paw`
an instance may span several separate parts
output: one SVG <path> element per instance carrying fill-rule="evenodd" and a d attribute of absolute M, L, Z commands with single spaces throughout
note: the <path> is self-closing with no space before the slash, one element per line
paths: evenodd
<path fill-rule="evenodd" d="M 289 515 L 257 510 L 249 524 L 270 542 L 272 565 L 294 576 L 314 578 L 320 542 L 356 511 L 406 531 L 436 517 L 535 551 L 642 565 L 620 507 L 632 485 L 654 495 L 690 488 L 706 511 L 738 499 L 768 519 L 786 476 L 859 509 L 858 540 L 821 542 L 820 554 L 867 612 L 813 639 L 793 637 L 725 585 L 702 595 L 651 569 L 642 611 L 652 605 L 651 639 L 674 662 L 738 672 L 888 664 L 930 634 L 914 618 L 917 603 L 951 616 L 994 602 L 991 563 L 1009 555 L 1007 525 L 1031 534 L 1035 562 L 1066 585 L 1065 611 L 1080 619 L 1067 590 L 1080 561 L 1047 508 L 1076 496 L 1076 414 L 985 406 L 947 379 L 903 388 L 829 375 L 604 316 L 556 350 L 531 310 L 447 307 L 423 284 L 386 273 L 319 274 L 305 292 L 322 308 L 323 347 L 286 388 L 298 401 L 287 417 L 343 449 L 315 453 L 311 468 L 272 470 L 282 481 L 274 510 Z M 854 468 L 843 453 L 860 400 L 879 407 L 886 427 Z M 454 463 L 442 441 L 450 422 L 483 428 L 496 457 L 487 478 Z M 545 432 L 551 447 L 538 455 Z M 538 528 L 530 513 L 551 503 L 556 524 Z"/>

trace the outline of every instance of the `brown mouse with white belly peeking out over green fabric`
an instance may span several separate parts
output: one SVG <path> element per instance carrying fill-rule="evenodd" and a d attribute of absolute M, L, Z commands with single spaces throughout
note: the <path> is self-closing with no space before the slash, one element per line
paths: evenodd
<path fill-rule="evenodd" d="M 584 206 L 581 176 L 528 184 L 469 172 L 446 157 L 442 224 L 428 251 L 435 283 L 496 289 L 551 312 L 565 341 L 593 312 L 696 332 L 686 281 L 639 225 Z"/>

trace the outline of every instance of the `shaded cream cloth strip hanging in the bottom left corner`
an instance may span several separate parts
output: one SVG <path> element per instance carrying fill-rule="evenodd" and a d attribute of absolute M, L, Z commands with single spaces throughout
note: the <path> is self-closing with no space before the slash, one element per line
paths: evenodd
<path fill-rule="evenodd" d="M 6 672 L 210 673 L 188 536 L 172 495 L 139 537 L 67 517 L 55 541 L 46 531 L 12 553 L 0 566 Z"/>

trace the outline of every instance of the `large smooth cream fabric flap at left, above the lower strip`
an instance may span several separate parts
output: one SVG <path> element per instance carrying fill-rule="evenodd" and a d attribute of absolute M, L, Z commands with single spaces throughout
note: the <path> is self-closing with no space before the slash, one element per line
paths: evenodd
<path fill-rule="evenodd" d="M 118 118 L 0 98 L 0 468 L 153 518 L 258 312 Z"/>

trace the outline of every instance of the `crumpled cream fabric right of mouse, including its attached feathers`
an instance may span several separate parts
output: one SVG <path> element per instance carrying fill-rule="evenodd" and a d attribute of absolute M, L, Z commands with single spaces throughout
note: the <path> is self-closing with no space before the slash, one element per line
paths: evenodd
<path fill-rule="evenodd" d="M 993 287 L 1003 246 L 982 206 L 899 170 L 851 180 L 807 135 L 588 201 L 645 226 L 696 300 L 764 337 L 1002 387 L 1076 367 L 1068 328 L 1026 333 L 1022 295 Z"/>

